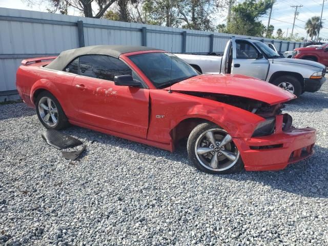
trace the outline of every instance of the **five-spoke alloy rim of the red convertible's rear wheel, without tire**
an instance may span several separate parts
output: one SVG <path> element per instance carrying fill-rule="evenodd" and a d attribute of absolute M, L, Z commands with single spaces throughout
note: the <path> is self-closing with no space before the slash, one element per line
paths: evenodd
<path fill-rule="evenodd" d="M 40 118 L 49 127 L 53 127 L 58 122 L 58 110 L 53 100 L 47 96 L 42 97 L 38 103 Z"/>

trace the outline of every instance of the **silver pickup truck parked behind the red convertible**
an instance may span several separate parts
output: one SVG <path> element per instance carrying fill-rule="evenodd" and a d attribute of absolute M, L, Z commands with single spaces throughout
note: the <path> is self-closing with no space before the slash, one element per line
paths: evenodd
<path fill-rule="evenodd" d="M 254 39 L 233 37 L 222 56 L 175 54 L 201 73 L 231 73 L 256 77 L 299 96 L 318 91 L 326 67 L 311 60 L 281 57 L 268 45 Z"/>

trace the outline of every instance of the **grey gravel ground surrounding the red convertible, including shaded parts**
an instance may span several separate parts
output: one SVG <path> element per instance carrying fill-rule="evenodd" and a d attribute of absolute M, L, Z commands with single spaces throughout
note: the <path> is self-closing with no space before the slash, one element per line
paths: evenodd
<path fill-rule="evenodd" d="M 219 176 L 197 171 L 183 148 L 77 127 L 65 132 L 87 151 L 65 160 L 35 111 L 0 106 L 0 244 L 328 245 L 328 83 L 285 111 L 318 130 L 313 157 Z"/>

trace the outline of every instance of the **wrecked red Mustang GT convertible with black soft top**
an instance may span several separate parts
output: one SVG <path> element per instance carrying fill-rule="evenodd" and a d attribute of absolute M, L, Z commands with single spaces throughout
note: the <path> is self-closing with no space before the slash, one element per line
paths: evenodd
<path fill-rule="evenodd" d="M 72 124 L 168 151 L 188 137 L 191 162 L 209 173 L 279 170 L 314 153 L 316 131 L 282 114 L 293 94 L 199 74 L 162 50 L 91 46 L 27 59 L 16 84 L 48 129 Z"/>

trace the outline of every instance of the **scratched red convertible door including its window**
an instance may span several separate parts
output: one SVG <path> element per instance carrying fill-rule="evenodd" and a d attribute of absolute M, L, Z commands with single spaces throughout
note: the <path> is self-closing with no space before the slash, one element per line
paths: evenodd
<path fill-rule="evenodd" d="M 132 74 L 140 79 L 124 61 L 106 55 L 84 55 L 79 57 L 78 67 L 71 97 L 78 107 L 79 121 L 146 138 L 149 90 L 114 84 L 116 75 Z"/>

